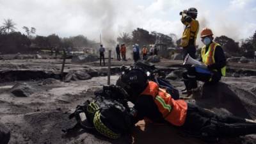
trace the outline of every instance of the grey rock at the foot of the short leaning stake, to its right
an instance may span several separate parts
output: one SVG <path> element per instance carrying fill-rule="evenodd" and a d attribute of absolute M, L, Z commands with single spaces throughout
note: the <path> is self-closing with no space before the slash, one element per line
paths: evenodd
<path fill-rule="evenodd" d="M 90 74 L 85 70 L 70 70 L 70 72 L 65 76 L 65 82 L 87 80 L 91 78 L 92 76 L 90 76 Z"/>

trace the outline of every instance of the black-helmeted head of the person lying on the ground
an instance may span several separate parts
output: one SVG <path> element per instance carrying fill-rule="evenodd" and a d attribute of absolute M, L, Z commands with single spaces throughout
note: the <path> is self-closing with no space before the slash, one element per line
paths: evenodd
<path fill-rule="evenodd" d="M 140 68 L 130 67 L 122 72 L 122 76 L 116 81 L 116 85 L 121 86 L 128 93 L 131 102 L 142 93 L 148 86 L 148 76 Z"/>

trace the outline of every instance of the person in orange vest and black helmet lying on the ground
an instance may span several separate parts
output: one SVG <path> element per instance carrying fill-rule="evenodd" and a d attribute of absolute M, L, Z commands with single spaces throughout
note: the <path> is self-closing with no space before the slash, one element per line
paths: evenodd
<path fill-rule="evenodd" d="M 169 122 L 208 141 L 256 133 L 256 124 L 252 120 L 216 115 L 195 104 L 172 99 L 172 95 L 148 81 L 145 72 L 138 68 L 122 72 L 116 85 L 124 88 L 134 103 L 134 124 L 143 118 L 157 123 Z"/>

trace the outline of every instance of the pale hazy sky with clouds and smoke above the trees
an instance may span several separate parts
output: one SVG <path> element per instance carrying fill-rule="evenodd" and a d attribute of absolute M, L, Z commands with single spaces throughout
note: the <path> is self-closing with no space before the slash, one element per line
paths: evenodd
<path fill-rule="evenodd" d="M 200 29 L 212 29 L 216 36 L 236 40 L 252 36 L 256 30 L 255 0 L 0 0 L 0 24 L 12 19 L 17 30 L 35 27 L 36 35 L 84 35 L 99 40 L 116 40 L 123 31 L 135 28 L 175 33 L 183 26 L 179 12 L 198 9 Z"/>

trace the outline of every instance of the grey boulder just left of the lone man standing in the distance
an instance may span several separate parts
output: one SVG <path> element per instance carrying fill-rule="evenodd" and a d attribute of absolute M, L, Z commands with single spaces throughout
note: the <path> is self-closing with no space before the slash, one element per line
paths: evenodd
<path fill-rule="evenodd" d="M 95 54 L 83 54 L 79 56 L 72 56 L 72 63 L 88 63 L 98 61 L 98 56 Z"/>

